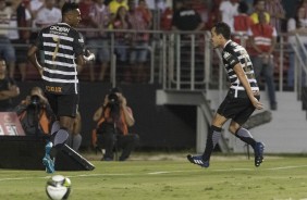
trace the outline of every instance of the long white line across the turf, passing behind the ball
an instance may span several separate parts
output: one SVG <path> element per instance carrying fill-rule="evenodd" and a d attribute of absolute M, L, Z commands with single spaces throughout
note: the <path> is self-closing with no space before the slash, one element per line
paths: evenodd
<path fill-rule="evenodd" d="M 307 165 L 297 165 L 297 166 L 280 166 L 280 167 L 271 167 L 271 168 L 261 168 L 263 171 L 278 171 L 278 170 L 290 170 L 290 168 L 303 168 L 307 167 Z M 200 168 L 200 167 L 199 167 Z M 206 168 L 204 168 L 206 170 Z M 158 171 L 158 172 L 149 172 L 145 173 L 148 175 L 160 175 L 160 174 L 173 174 L 173 173 L 191 173 L 191 172 L 198 172 L 199 170 L 193 170 L 193 171 Z M 233 172 L 233 171 L 255 171 L 255 168 L 217 168 L 217 170 L 210 170 L 210 171 L 216 171 L 216 172 Z M 132 176 L 136 174 L 132 173 L 118 173 L 118 174 L 79 174 L 79 175 L 74 175 L 74 176 L 67 176 L 70 178 L 75 178 L 75 177 L 98 177 L 98 176 Z M 0 178 L 0 182 L 7 182 L 7 180 L 24 180 L 24 179 L 34 179 L 34 178 L 50 178 L 51 175 L 49 176 L 41 176 L 41 177 L 7 177 L 7 178 Z"/>

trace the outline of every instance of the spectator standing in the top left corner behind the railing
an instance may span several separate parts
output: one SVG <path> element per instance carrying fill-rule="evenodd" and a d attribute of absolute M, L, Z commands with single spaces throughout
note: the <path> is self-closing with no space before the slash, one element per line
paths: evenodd
<path fill-rule="evenodd" d="M 0 58 L 3 58 L 9 65 L 9 77 L 14 77 L 15 72 L 15 49 L 9 38 L 9 28 L 13 9 L 7 5 L 5 0 L 0 0 Z"/>

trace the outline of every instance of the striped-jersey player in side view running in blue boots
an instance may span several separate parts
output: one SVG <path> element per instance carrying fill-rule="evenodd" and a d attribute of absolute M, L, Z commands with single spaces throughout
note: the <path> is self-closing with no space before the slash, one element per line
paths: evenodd
<path fill-rule="evenodd" d="M 259 88 L 253 64 L 245 48 L 230 38 L 231 29 L 228 24 L 220 22 L 212 27 L 212 46 L 213 48 L 223 49 L 223 64 L 231 87 L 217 114 L 213 116 L 207 136 L 205 152 L 201 155 L 187 155 L 189 162 L 202 167 L 209 166 L 210 155 L 220 139 L 222 126 L 229 118 L 232 120 L 229 130 L 253 147 L 255 151 L 255 166 L 260 166 L 263 160 L 265 145 L 256 141 L 250 133 L 242 127 L 255 109 L 262 109 L 262 103 L 259 102 Z"/>

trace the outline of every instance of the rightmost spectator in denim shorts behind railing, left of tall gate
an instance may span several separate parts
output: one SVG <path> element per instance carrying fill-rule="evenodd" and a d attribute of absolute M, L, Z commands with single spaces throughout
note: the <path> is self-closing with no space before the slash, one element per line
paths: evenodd
<path fill-rule="evenodd" d="M 148 55 L 149 34 L 142 32 L 148 30 L 150 24 L 144 12 L 136 9 L 135 0 L 128 0 L 128 8 L 130 28 L 136 32 L 131 34 L 130 39 L 130 64 L 136 74 L 136 82 L 146 82 L 148 68 L 145 68 L 145 63 Z"/>

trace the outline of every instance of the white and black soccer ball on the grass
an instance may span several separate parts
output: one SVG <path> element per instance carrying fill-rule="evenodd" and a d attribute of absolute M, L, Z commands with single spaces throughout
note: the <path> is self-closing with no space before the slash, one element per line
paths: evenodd
<path fill-rule="evenodd" d="M 67 199 L 71 193 L 71 185 L 70 178 L 54 175 L 46 184 L 46 193 L 51 200 Z"/>

